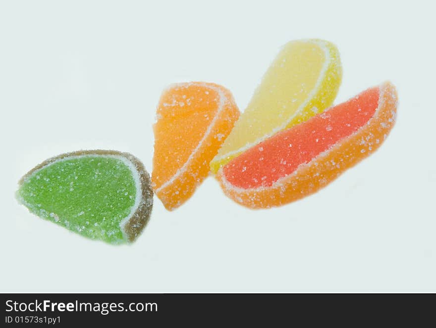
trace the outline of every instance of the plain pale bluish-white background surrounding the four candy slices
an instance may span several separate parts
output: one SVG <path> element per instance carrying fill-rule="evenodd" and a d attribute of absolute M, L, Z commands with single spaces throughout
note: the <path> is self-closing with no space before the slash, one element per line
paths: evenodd
<path fill-rule="evenodd" d="M 351 2 L 1 1 L 0 291 L 436 291 L 436 8 Z M 128 151 L 151 171 L 165 86 L 215 82 L 243 110 L 301 38 L 338 46 L 335 103 L 384 80 L 400 100 L 379 151 L 318 193 L 253 211 L 208 178 L 173 212 L 155 197 L 126 246 L 14 199 L 22 175 L 67 151 Z"/>

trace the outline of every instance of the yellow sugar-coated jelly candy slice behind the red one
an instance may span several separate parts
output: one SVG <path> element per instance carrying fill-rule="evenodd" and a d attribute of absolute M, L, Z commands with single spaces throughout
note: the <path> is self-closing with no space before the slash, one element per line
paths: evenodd
<path fill-rule="evenodd" d="M 328 108 L 341 78 L 339 52 L 333 44 L 323 40 L 286 44 L 212 160 L 212 172 L 275 133 Z"/>

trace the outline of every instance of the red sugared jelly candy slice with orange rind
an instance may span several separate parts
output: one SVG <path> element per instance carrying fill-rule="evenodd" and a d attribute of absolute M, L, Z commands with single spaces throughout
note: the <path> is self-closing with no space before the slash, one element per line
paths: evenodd
<path fill-rule="evenodd" d="M 248 149 L 218 171 L 225 194 L 269 208 L 316 192 L 374 152 L 395 122 L 397 94 L 384 83 Z"/>

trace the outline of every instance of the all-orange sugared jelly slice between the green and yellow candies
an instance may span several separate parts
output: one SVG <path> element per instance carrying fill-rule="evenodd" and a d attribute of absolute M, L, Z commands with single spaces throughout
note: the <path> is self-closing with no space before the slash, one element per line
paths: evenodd
<path fill-rule="evenodd" d="M 152 186 L 166 209 L 183 204 L 209 175 L 209 163 L 238 117 L 232 94 L 216 84 L 182 83 L 163 92 L 154 125 Z"/>

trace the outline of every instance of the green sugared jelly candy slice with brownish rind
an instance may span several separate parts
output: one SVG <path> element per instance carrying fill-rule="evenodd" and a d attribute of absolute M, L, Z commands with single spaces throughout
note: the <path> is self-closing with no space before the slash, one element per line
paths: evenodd
<path fill-rule="evenodd" d="M 131 242 L 153 207 L 150 175 L 134 156 L 85 150 L 46 160 L 19 182 L 30 212 L 91 239 Z"/>

